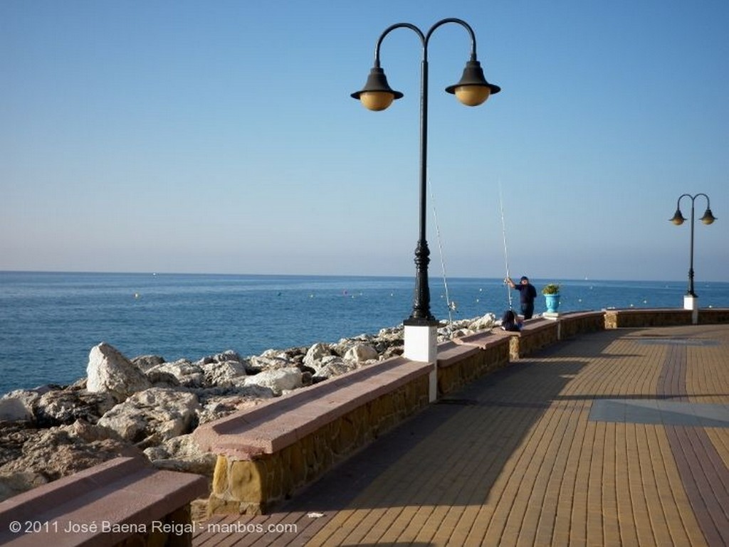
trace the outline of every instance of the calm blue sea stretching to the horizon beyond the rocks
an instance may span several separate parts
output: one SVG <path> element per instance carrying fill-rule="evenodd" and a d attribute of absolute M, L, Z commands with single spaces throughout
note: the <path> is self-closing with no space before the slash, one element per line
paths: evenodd
<path fill-rule="evenodd" d="M 686 291 L 685 282 L 561 283 L 564 312 L 682 307 Z M 0 272 L 0 394 L 84 377 L 99 342 L 130 358 L 195 361 L 375 334 L 410 315 L 413 286 L 413 278 Z M 430 287 L 432 312 L 448 320 L 443 279 Z M 454 320 L 508 307 L 500 279 L 454 278 L 447 288 Z M 729 307 L 729 283 L 695 290 L 702 307 Z M 539 296 L 536 312 L 544 310 Z"/>

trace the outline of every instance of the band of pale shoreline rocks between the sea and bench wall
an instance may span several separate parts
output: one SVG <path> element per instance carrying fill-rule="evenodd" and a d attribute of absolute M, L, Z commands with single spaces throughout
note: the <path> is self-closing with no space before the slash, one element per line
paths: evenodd
<path fill-rule="evenodd" d="M 490 313 L 454 321 L 439 329 L 439 342 L 495 324 Z M 198 425 L 401 355 L 403 332 L 171 363 L 159 355 L 129 359 L 101 342 L 90 350 L 85 379 L 0 398 L 0 500 L 120 455 L 211 477 L 216 457 L 190 435 Z"/>

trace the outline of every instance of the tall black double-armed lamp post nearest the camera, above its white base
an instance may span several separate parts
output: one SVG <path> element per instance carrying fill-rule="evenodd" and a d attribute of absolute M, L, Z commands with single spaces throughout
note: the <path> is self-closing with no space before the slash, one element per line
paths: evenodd
<path fill-rule="evenodd" d="M 351 96 L 358 99 L 370 110 L 384 110 L 391 105 L 394 99 L 402 98 L 402 93 L 392 90 L 387 83 L 387 78 L 380 68 L 380 47 L 383 39 L 396 28 L 410 28 L 420 36 L 423 44 L 423 61 L 421 70 L 421 92 L 420 92 L 420 238 L 415 251 L 416 264 L 416 291 L 413 302 L 413 313 L 405 320 L 406 325 L 411 326 L 432 326 L 436 324 L 434 316 L 430 312 L 430 289 L 428 287 L 428 263 L 430 251 L 426 241 L 426 169 L 427 169 L 427 146 L 428 146 L 428 42 L 436 28 L 445 23 L 456 23 L 465 28 L 471 36 L 471 59 L 467 61 L 463 76 L 457 84 L 445 88 L 447 93 L 453 93 L 456 98 L 467 106 L 478 106 L 489 95 L 499 93 L 501 88 L 486 82 L 483 76 L 483 69 L 476 58 L 476 36 L 473 29 L 464 20 L 448 18 L 435 23 L 427 34 L 410 23 L 397 23 L 385 29 L 377 41 L 375 47 L 375 65 L 370 70 L 367 83 L 364 89 Z"/>

